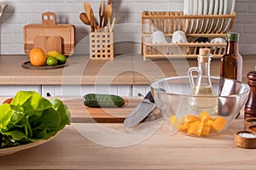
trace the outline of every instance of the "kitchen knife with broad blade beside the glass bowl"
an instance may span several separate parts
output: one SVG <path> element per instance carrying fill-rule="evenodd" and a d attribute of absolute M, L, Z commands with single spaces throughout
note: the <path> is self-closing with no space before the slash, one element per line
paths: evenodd
<path fill-rule="evenodd" d="M 154 111 L 155 107 L 154 98 L 151 92 L 148 92 L 131 114 L 125 118 L 124 126 L 128 128 L 136 126 L 139 122 L 142 122 L 146 116 Z"/>

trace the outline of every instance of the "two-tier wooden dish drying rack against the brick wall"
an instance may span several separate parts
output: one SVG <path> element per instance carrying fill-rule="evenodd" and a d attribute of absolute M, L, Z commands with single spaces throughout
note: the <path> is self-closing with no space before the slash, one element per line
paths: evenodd
<path fill-rule="evenodd" d="M 215 37 L 225 38 L 226 33 L 232 30 L 235 18 L 236 13 L 183 15 L 183 12 L 143 11 L 143 60 L 167 57 L 196 58 L 199 48 L 210 48 L 212 56 L 220 58 L 225 53 L 226 42 L 211 41 Z M 175 31 L 183 31 L 188 42 L 152 43 L 150 37 L 154 31 L 163 31 L 166 37 L 172 37 Z M 209 42 L 195 42 L 199 37 L 207 37 Z"/>

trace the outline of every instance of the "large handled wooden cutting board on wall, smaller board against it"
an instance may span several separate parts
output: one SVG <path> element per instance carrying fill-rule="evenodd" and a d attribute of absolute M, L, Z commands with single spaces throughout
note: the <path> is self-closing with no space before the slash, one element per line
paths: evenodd
<path fill-rule="evenodd" d="M 49 50 L 61 50 L 61 54 L 72 55 L 75 46 L 75 29 L 73 25 L 55 24 L 55 13 L 41 14 L 42 24 L 30 24 L 23 28 L 24 52 L 29 54 L 34 47 Z"/>

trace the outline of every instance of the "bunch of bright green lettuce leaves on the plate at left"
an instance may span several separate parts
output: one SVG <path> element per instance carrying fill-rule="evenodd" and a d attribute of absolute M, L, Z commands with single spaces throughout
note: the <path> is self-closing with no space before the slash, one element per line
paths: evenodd
<path fill-rule="evenodd" d="M 7 147 L 49 139 L 69 124 L 67 105 L 33 91 L 20 91 L 10 104 L 0 105 L 0 132 Z"/>

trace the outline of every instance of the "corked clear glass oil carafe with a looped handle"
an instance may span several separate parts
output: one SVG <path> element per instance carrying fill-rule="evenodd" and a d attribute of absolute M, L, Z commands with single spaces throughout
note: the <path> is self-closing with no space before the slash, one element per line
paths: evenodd
<path fill-rule="evenodd" d="M 218 99 L 214 94 L 210 80 L 211 59 L 210 49 L 200 48 L 197 58 L 198 67 L 191 67 L 188 71 L 192 88 L 192 97 L 189 101 L 191 112 L 207 111 L 209 114 L 216 114 L 218 111 Z M 193 77 L 193 72 L 197 72 L 197 77 Z M 195 78 L 196 81 L 194 82 Z"/>

